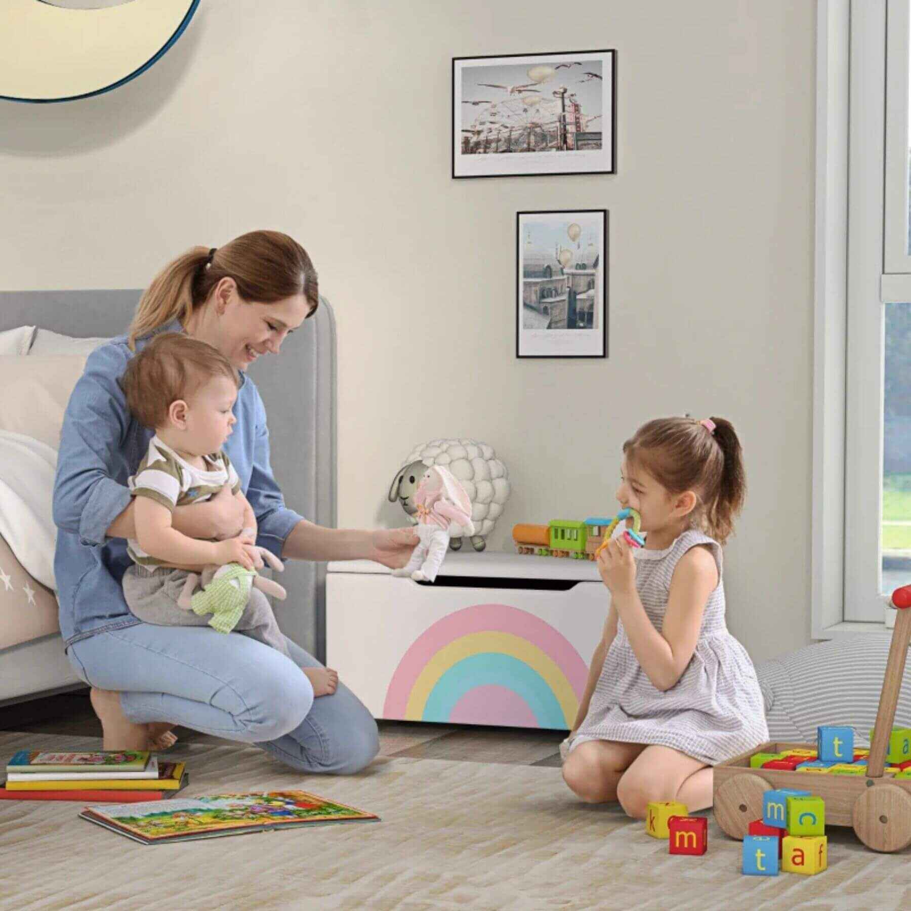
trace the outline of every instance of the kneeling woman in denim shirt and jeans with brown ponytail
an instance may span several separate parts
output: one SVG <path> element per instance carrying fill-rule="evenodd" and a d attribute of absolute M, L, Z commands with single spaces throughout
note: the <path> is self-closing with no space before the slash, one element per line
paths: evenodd
<path fill-rule="evenodd" d="M 255 743 L 302 772 L 353 773 L 376 755 L 373 717 L 341 682 L 313 701 L 300 668 L 322 665 L 291 640 L 289 660 L 247 636 L 143 623 L 129 613 L 120 587 L 129 565 L 126 539 L 135 537 L 127 479 L 152 431 L 130 417 L 118 377 L 161 332 L 208 342 L 241 371 L 237 424 L 225 450 L 256 514 L 258 545 L 283 559 L 404 566 L 417 543 L 410 529 L 313 525 L 285 507 L 272 476 L 265 408 L 244 372 L 261 354 L 279 353 L 318 304 L 316 272 L 301 245 L 276 231 L 253 231 L 173 261 L 143 294 L 128 334 L 87 360 L 60 441 L 54 567 L 67 656 L 92 687 L 106 749 L 161 748 L 173 740 L 165 732 L 182 724 Z M 189 537 L 235 537 L 242 506 L 222 491 L 179 507 L 172 521 Z"/>

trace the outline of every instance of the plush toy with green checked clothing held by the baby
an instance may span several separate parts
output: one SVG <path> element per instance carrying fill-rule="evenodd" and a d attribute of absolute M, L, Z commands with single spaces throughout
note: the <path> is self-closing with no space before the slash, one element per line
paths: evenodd
<path fill-rule="evenodd" d="M 244 528 L 244 532 L 252 529 Z M 273 569 L 281 572 L 284 564 L 271 550 L 256 548 Z M 196 590 L 201 584 L 202 589 Z M 240 563 L 226 563 L 219 567 L 214 563 L 202 571 L 202 576 L 190 573 L 180 592 L 178 607 L 192 610 L 193 613 L 211 614 L 209 625 L 219 632 L 230 632 L 241 619 L 243 609 L 250 600 L 251 589 L 255 587 L 283 601 L 288 592 L 271 578 L 262 578 L 255 569 L 245 569 Z"/>

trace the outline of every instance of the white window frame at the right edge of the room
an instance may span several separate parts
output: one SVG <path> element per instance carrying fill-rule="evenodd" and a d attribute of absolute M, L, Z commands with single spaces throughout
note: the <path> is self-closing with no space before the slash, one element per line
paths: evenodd
<path fill-rule="evenodd" d="M 879 593 L 885 303 L 911 301 L 909 6 L 911 0 L 818 4 L 814 639 L 885 625 Z M 904 150 L 904 163 L 895 149 Z M 902 180 L 905 192 L 899 187 L 896 197 Z M 903 201 L 904 212 L 896 204 L 886 210 L 892 198 Z"/>

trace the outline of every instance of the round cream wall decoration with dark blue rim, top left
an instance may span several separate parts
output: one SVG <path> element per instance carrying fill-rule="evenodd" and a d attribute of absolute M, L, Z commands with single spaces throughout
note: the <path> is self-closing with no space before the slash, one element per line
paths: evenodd
<path fill-rule="evenodd" d="M 200 0 L 3 0 L 0 98 L 72 101 L 122 86 L 183 34 Z"/>

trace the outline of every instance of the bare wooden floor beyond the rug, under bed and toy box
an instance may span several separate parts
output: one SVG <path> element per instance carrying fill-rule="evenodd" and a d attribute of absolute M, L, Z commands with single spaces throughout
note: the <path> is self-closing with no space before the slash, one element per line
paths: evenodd
<path fill-rule="evenodd" d="M 379 722 L 380 755 L 415 759 L 461 760 L 466 763 L 559 766 L 561 731 L 488 728 L 425 722 Z M 0 731 L 100 737 L 101 725 L 88 701 L 88 691 L 48 696 L 0 706 Z M 186 743 L 230 743 L 210 734 L 176 728 Z"/>

